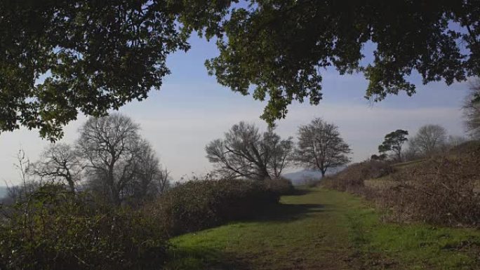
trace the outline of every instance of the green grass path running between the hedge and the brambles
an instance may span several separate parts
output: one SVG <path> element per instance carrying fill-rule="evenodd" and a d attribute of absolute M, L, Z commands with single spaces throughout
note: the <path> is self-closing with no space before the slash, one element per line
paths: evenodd
<path fill-rule="evenodd" d="M 361 198 L 304 189 L 258 219 L 173 238 L 167 269 L 480 269 L 480 232 L 380 222 Z"/>

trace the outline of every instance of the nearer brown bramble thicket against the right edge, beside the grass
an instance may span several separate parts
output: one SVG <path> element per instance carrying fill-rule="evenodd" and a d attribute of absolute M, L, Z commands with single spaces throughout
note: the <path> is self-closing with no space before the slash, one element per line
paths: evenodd
<path fill-rule="evenodd" d="M 479 227 L 479 168 L 478 154 L 418 163 L 395 174 L 377 201 L 394 220 Z"/>

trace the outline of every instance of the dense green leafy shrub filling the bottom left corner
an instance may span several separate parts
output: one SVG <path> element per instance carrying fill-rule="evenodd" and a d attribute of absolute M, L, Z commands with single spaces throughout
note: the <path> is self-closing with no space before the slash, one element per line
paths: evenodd
<path fill-rule="evenodd" d="M 46 185 L 0 222 L 0 269 L 155 269 L 166 238 L 149 213 L 94 208 Z"/>

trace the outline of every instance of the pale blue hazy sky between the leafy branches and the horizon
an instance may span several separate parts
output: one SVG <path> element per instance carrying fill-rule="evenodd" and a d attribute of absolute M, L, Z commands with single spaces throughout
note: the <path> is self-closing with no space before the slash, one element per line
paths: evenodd
<path fill-rule="evenodd" d="M 233 93 L 220 86 L 215 77 L 208 76 L 204 62 L 218 55 L 215 43 L 197 36 L 192 36 L 189 42 L 191 50 L 173 53 L 168 58 L 171 75 L 164 78 L 161 90 L 152 90 L 147 100 L 131 102 L 120 109 L 140 124 L 140 133 L 152 144 L 175 180 L 192 173 L 208 173 L 213 166 L 205 157 L 205 145 L 222 137 L 235 123 L 247 121 L 258 124 L 261 130 L 267 128 L 259 119 L 265 102 Z M 368 55 L 373 48 L 367 44 L 364 53 Z M 465 135 L 460 108 L 468 92 L 468 81 L 451 86 L 444 82 L 424 86 L 420 76 L 413 74 L 408 78 L 417 86 L 418 93 L 413 97 L 401 93 L 372 104 L 364 98 L 368 83 L 363 74 L 340 76 L 334 69 L 325 69 L 322 76 L 324 99 L 318 106 L 308 102 L 292 104 L 286 119 L 277 122 L 279 135 L 295 138 L 298 126 L 321 117 L 339 127 L 353 150 L 354 162 L 375 154 L 385 134 L 399 128 L 412 135 L 420 126 L 433 123 L 444 126 L 451 135 Z M 85 116 L 80 116 L 69 123 L 60 142 L 73 143 L 85 120 Z M 30 161 L 36 161 L 49 143 L 39 137 L 37 130 L 1 133 L 0 185 L 20 181 L 13 166 L 19 149 L 25 151 Z M 294 170 L 300 168 L 288 171 Z"/>

